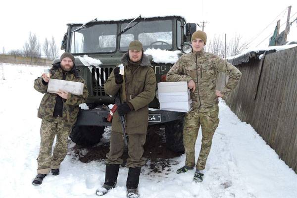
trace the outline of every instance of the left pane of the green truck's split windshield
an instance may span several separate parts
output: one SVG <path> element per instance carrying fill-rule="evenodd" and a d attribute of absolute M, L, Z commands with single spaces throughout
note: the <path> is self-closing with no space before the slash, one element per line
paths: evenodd
<path fill-rule="evenodd" d="M 73 26 L 71 31 L 80 25 Z M 96 24 L 71 33 L 71 53 L 113 52 L 116 49 L 117 24 Z"/>

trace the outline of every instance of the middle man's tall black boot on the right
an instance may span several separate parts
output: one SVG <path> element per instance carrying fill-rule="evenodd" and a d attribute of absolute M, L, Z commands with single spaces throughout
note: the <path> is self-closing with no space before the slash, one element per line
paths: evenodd
<path fill-rule="evenodd" d="M 141 167 L 129 168 L 127 177 L 127 198 L 139 198 L 138 184 Z"/>

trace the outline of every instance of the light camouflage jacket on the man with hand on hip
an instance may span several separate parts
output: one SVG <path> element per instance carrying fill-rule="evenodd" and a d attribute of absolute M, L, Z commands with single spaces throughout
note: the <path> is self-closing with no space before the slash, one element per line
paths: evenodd
<path fill-rule="evenodd" d="M 235 89 L 241 78 L 241 72 L 223 58 L 212 53 L 199 51 L 182 55 L 167 73 L 167 81 L 194 80 L 196 90 L 191 92 L 194 106 L 212 106 L 218 103 L 215 94 L 218 73 L 224 72 L 229 80 L 221 91 L 223 99 Z"/>

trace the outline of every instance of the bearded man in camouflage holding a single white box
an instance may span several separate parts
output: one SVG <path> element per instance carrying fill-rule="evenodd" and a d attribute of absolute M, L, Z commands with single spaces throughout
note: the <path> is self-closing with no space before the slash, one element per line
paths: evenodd
<path fill-rule="evenodd" d="M 79 70 L 75 68 L 74 56 L 68 52 L 61 55 L 60 62 L 52 65 L 50 78 L 84 83 Z M 84 85 L 83 95 L 76 96 L 62 90 L 57 94 L 49 93 L 47 92 L 48 83 L 49 76 L 45 73 L 34 82 L 34 88 L 45 95 L 38 110 L 38 117 L 42 118 L 41 142 L 37 159 L 37 176 L 32 182 L 33 185 L 41 185 L 50 169 L 52 175 L 59 174 L 60 164 L 67 153 L 68 136 L 77 119 L 78 105 L 84 103 L 88 97 L 86 85 Z M 57 139 L 51 155 L 55 135 Z"/>

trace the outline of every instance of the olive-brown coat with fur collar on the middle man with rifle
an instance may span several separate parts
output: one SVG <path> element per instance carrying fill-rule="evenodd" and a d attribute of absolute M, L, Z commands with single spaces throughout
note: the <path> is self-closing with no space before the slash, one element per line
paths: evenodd
<path fill-rule="evenodd" d="M 143 54 L 140 66 L 132 73 L 128 66 L 128 53 L 125 53 L 121 59 L 125 65 L 124 69 L 124 85 L 126 90 L 126 98 L 123 99 L 122 84 L 115 83 L 113 72 L 107 79 L 104 90 L 106 94 L 114 96 L 120 91 L 122 101 L 130 102 L 134 110 L 127 113 L 126 130 L 127 134 L 147 133 L 148 130 L 148 103 L 154 99 L 156 91 L 156 77 L 153 69 L 150 67 L 148 57 Z M 121 122 L 117 111 L 112 118 L 112 131 L 122 132 Z"/>

